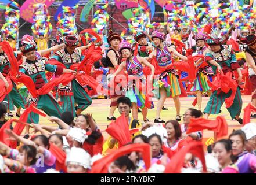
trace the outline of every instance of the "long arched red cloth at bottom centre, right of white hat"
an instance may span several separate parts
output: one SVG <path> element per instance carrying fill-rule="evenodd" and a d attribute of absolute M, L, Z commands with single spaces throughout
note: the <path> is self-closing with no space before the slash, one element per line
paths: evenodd
<path fill-rule="evenodd" d="M 117 160 L 117 158 L 124 156 L 125 154 L 132 153 L 132 151 L 142 153 L 142 158 L 145 162 L 146 169 L 149 169 L 151 165 L 150 145 L 147 143 L 135 143 L 118 148 L 116 151 L 113 151 L 113 153 L 110 153 L 106 157 L 95 161 L 92 165 L 91 173 L 107 173 L 111 162 Z"/>

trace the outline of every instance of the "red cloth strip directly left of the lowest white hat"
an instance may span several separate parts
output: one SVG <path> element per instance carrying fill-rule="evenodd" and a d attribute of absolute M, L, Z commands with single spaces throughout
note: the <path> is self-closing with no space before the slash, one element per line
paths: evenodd
<path fill-rule="evenodd" d="M 66 153 L 57 147 L 55 144 L 50 143 L 49 151 L 56 157 L 56 170 L 62 170 L 64 173 L 67 173 L 66 167 Z"/>

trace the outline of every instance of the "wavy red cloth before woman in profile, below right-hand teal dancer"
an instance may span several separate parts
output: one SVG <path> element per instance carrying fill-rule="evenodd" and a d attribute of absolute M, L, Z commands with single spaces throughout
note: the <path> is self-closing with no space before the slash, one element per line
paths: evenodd
<path fill-rule="evenodd" d="M 204 129 L 215 131 L 218 137 L 228 135 L 228 124 L 223 116 L 218 116 L 216 120 L 208 120 L 203 117 L 192 118 L 186 133 L 190 134 L 191 132 L 202 131 Z"/>

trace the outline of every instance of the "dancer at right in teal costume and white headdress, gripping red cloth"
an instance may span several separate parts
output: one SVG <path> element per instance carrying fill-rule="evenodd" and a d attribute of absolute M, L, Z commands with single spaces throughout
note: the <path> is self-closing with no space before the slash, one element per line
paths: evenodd
<path fill-rule="evenodd" d="M 207 39 L 206 42 L 210 46 L 210 51 L 205 54 L 205 61 L 212 67 L 215 74 L 220 73 L 218 74 L 221 76 L 219 80 L 223 82 L 224 77 L 226 80 L 221 83 L 221 87 L 219 87 L 219 84 L 216 85 L 217 88 L 214 89 L 204 109 L 205 118 L 208 118 L 210 114 L 218 114 L 225 101 L 231 118 L 243 124 L 243 119 L 239 117 L 243 101 L 239 86 L 237 86 L 241 82 L 242 75 L 235 53 L 232 51 L 231 45 L 222 45 L 223 38 L 219 29 L 212 29 L 211 35 L 209 36 L 211 38 Z M 238 74 L 237 79 L 235 77 L 235 71 Z M 228 83 L 229 87 L 235 86 L 235 88 L 233 90 L 226 88 L 228 92 L 224 92 L 223 86 Z"/>

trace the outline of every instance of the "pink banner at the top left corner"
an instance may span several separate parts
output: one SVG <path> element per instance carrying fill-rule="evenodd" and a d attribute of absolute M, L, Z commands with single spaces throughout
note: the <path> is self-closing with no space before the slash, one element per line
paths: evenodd
<path fill-rule="evenodd" d="M 29 23 L 33 23 L 33 5 L 37 3 L 51 6 L 55 0 L 27 0 L 20 8 L 20 17 Z"/>

